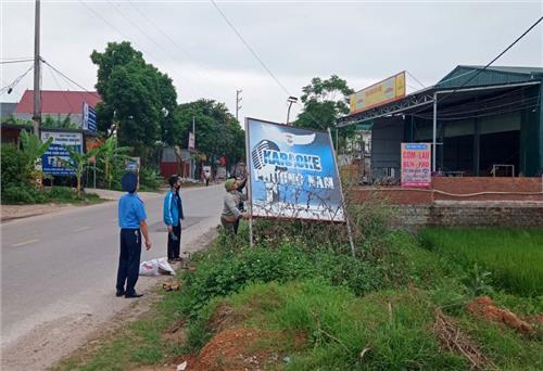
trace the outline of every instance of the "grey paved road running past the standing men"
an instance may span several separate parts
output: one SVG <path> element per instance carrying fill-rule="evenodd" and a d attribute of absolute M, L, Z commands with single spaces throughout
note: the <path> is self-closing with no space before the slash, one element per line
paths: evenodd
<path fill-rule="evenodd" d="M 181 191 L 181 250 L 219 221 L 222 186 Z M 153 247 L 141 259 L 166 256 L 163 195 L 144 199 Z M 2 370 L 43 369 L 72 351 L 115 314 L 140 299 L 115 297 L 118 261 L 116 202 L 76 207 L 1 226 Z M 138 291 L 156 284 L 140 278 Z M 144 297 L 143 297 L 144 298 Z"/>

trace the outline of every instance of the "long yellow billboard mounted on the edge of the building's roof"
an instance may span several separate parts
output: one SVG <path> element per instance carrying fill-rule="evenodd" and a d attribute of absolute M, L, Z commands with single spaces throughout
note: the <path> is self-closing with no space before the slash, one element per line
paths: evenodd
<path fill-rule="evenodd" d="M 405 72 L 362 89 L 351 95 L 351 114 L 393 102 L 405 97 Z"/>

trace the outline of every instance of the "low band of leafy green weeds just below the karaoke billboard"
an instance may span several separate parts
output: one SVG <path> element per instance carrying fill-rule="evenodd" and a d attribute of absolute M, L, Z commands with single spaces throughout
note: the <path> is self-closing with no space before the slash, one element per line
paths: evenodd
<path fill-rule="evenodd" d="M 252 282 L 323 278 L 358 295 L 383 284 L 379 267 L 350 255 L 308 252 L 294 244 L 282 244 L 274 250 L 255 247 L 217 252 L 218 248 L 200 258 L 198 270 L 185 277 L 187 295 L 191 297 L 186 308 L 189 315 L 197 315 L 213 297 L 238 292 Z"/>

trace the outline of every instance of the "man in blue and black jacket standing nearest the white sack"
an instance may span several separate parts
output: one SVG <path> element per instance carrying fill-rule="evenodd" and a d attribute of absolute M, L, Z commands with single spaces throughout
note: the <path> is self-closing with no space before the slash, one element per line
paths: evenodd
<path fill-rule="evenodd" d="M 164 199 L 164 223 L 168 231 L 168 261 L 180 261 L 179 257 L 181 247 L 181 220 L 185 219 L 182 214 L 182 202 L 179 195 L 181 188 L 181 179 L 177 175 L 173 175 L 168 179 L 169 191 Z"/>

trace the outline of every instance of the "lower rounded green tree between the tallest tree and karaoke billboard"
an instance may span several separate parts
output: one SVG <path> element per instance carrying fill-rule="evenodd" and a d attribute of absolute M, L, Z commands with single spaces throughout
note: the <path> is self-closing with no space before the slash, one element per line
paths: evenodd
<path fill-rule="evenodd" d="M 192 117 L 195 121 L 197 150 L 210 161 L 225 156 L 227 165 L 232 165 L 244 157 L 245 135 L 241 126 L 224 103 L 213 100 L 201 99 L 177 107 L 175 119 L 179 123 L 181 148 L 188 148 Z"/>

